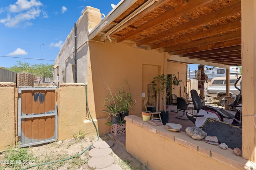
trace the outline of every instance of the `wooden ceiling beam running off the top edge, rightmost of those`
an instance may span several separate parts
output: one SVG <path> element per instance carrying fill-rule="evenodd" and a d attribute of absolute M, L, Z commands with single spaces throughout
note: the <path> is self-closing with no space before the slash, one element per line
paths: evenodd
<path fill-rule="evenodd" d="M 145 30 L 151 28 L 152 25 L 154 25 L 154 27 L 157 25 L 160 25 L 161 23 L 171 20 L 172 18 L 174 18 L 178 15 L 185 14 L 186 12 L 188 12 L 198 6 L 201 6 L 202 4 L 208 3 L 210 1 L 212 1 L 212 0 L 188 1 L 188 3 L 186 5 L 177 6 L 176 8 L 173 8 L 173 9 L 169 10 L 168 12 L 165 12 L 164 14 L 162 14 L 154 19 L 152 19 L 148 22 L 145 22 L 144 24 L 137 27 L 137 29 L 134 29 L 134 30 L 131 30 L 131 31 L 125 33 L 122 38 L 116 39 L 116 42 L 119 43 L 121 41 L 124 41 L 125 39 L 128 39 L 129 37 L 132 37 L 142 31 L 145 31 Z"/>

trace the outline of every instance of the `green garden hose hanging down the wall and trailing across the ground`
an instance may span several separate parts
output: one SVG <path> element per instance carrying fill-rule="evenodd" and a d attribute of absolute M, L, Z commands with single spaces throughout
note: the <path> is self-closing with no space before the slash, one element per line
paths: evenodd
<path fill-rule="evenodd" d="M 92 115 L 91 115 L 91 113 L 90 113 L 89 106 L 88 106 L 87 86 L 86 86 L 86 83 L 85 83 L 85 82 L 84 82 L 84 86 L 85 86 L 85 96 L 86 96 L 86 107 L 87 107 L 88 113 L 89 113 L 89 115 L 90 115 L 90 117 L 91 117 L 91 119 L 92 119 Z M 96 125 L 95 125 L 93 119 L 92 119 L 92 122 L 93 122 L 94 127 L 95 127 L 95 129 L 96 129 L 96 131 L 97 131 L 97 136 L 98 136 L 98 140 L 99 140 L 99 139 L 100 139 L 99 131 L 98 131 L 98 129 L 97 129 L 97 127 L 96 127 Z M 98 141 L 98 140 L 97 140 L 97 141 Z M 92 147 L 92 145 L 93 145 L 93 144 L 91 144 L 88 148 L 86 148 L 86 150 L 88 150 L 90 147 Z M 46 162 L 46 163 L 43 163 L 43 164 L 37 164 L 37 165 L 33 165 L 33 166 L 29 166 L 29 167 L 27 167 L 27 168 L 25 168 L 25 169 L 23 169 L 23 170 L 26 170 L 26 169 L 29 169 L 29 168 L 32 168 L 32 167 L 35 167 L 35 166 L 46 165 L 46 164 L 53 164 L 53 163 L 56 163 L 56 162 L 62 162 L 62 161 L 64 161 L 64 160 L 69 160 L 69 159 L 72 159 L 72 158 L 75 158 L 75 157 L 77 157 L 77 156 L 82 155 L 84 152 L 86 152 L 86 150 L 84 150 L 84 151 L 81 152 L 80 154 L 74 155 L 74 156 L 72 156 L 72 157 L 70 157 L 70 158 L 66 158 L 66 159 L 62 159 L 62 160 L 56 160 L 56 161 L 52 161 L 52 162 Z"/>

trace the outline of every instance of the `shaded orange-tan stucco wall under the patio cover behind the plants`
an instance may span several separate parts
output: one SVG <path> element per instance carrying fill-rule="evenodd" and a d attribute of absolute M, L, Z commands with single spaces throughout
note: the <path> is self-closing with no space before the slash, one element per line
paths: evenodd
<path fill-rule="evenodd" d="M 172 63 L 173 69 L 170 68 L 164 72 L 164 65 L 169 65 L 167 64 L 169 62 L 165 59 L 165 54 L 158 51 L 149 52 L 138 48 L 130 48 L 124 43 L 102 44 L 90 42 L 89 48 L 96 118 L 106 117 L 102 110 L 106 109 L 103 105 L 104 96 L 106 95 L 104 87 L 107 84 L 114 92 L 121 88 L 122 84 L 128 90 L 125 84 L 127 79 L 131 93 L 135 95 L 133 97 L 136 99 L 136 106 L 129 110 L 129 115 L 141 116 L 141 111 L 144 109 L 142 92 L 148 96 L 147 84 L 151 84 L 154 76 L 163 73 L 186 72 L 186 64 L 178 63 Z M 185 74 L 180 74 L 180 78 L 186 82 Z M 183 84 L 181 85 L 183 86 Z M 176 89 L 180 91 L 179 86 Z"/>

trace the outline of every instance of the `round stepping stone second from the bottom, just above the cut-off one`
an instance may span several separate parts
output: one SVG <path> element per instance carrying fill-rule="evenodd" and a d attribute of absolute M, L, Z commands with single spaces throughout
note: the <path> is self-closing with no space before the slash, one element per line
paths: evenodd
<path fill-rule="evenodd" d="M 92 157 L 88 160 L 87 163 L 89 169 L 107 168 L 112 164 L 114 164 L 114 158 L 110 155 L 103 157 Z"/>

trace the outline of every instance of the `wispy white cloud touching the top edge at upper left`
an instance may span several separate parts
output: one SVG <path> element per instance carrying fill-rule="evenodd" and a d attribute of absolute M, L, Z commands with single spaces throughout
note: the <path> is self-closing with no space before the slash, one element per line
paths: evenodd
<path fill-rule="evenodd" d="M 9 10 L 10 12 L 20 12 L 39 6 L 42 6 L 42 3 L 40 1 L 30 0 L 29 2 L 27 0 L 17 0 L 15 4 L 9 6 Z"/>

